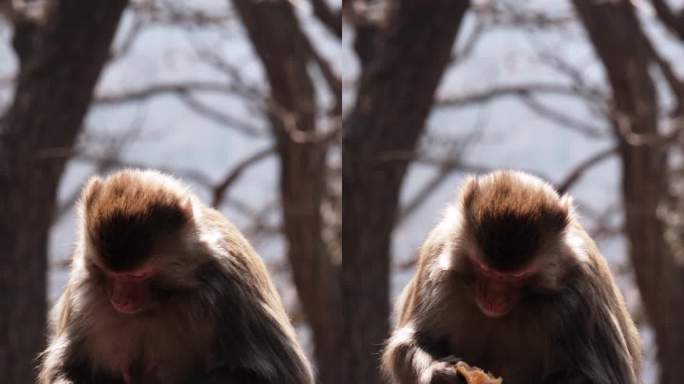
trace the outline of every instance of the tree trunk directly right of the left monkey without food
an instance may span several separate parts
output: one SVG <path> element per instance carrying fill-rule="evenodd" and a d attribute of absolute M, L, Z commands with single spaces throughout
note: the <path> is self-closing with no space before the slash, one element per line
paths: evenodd
<path fill-rule="evenodd" d="M 339 263 L 323 239 L 321 205 L 327 144 L 316 135 L 310 43 L 286 0 L 233 0 L 271 87 L 270 120 L 280 156 L 280 195 L 288 258 L 313 331 L 318 380 L 340 383 Z"/>

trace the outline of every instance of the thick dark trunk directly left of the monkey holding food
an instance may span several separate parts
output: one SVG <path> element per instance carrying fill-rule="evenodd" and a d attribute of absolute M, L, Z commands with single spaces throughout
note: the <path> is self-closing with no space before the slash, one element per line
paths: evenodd
<path fill-rule="evenodd" d="M 382 381 L 388 336 L 390 242 L 401 183 L 423 132 L 469 2 L 388 2 L 356 103 L 345 119 L 342 300 L 346 383 Z M 366 52 L 368 53 L 368 52 Z"/>

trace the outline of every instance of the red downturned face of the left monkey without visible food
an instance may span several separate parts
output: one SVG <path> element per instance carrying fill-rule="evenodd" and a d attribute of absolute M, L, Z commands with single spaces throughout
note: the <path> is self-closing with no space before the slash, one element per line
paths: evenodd
<path fill-rule="evenodd" d="M 109 301 L 114 309 L 124 314 L 140 311 L 148 299 L 148 285 L 155 270 L 143 267 L 132 272 L 107 272 Z"/>

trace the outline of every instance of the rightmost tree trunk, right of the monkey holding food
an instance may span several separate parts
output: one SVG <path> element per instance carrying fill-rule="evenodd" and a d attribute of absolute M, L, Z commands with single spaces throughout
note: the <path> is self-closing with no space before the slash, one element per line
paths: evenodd
<path fill-rule="evenodd" d="M 667 156 L 663 147 L 634 142 L 635 136 L 658 134 L 650 54 L 640 43 L 645 37 L 629 2 L 574 0 L 574 4 L 613 92 L 629 256 L 656 334 L 660 383 L 678 383 L 684 377 L 684 281 L 658 216 L 669 185 Z"/>

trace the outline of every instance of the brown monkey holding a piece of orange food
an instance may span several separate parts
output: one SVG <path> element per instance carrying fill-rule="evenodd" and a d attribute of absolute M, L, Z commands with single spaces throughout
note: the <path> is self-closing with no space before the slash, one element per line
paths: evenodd
<path fill-rule="evenodd" d="M 465 182 L 421 248 L 383 368 L 456 383 L 462 360 L 506 384 L 639 382 L 640 347 L 569 197 L 513 171 Z"/>

